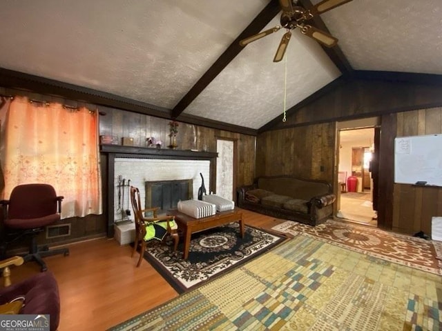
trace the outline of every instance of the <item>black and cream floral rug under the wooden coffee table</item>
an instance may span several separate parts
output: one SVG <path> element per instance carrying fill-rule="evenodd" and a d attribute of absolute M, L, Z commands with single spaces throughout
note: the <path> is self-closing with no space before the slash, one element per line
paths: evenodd
<path fill-rule="evenodd" d="M 245 227 L 244 238 L 239 237 L 238 223 L 192 234 L 189 257 L 182 259 L 183 243 L 178 252 L 172 245 L 148 245 L 144 259 L 162 274 L 178 293 L 200 285 L 218 274 L 227 272 L 249 259 L 273 248 L 287 237 L 265 230 Z"/>

